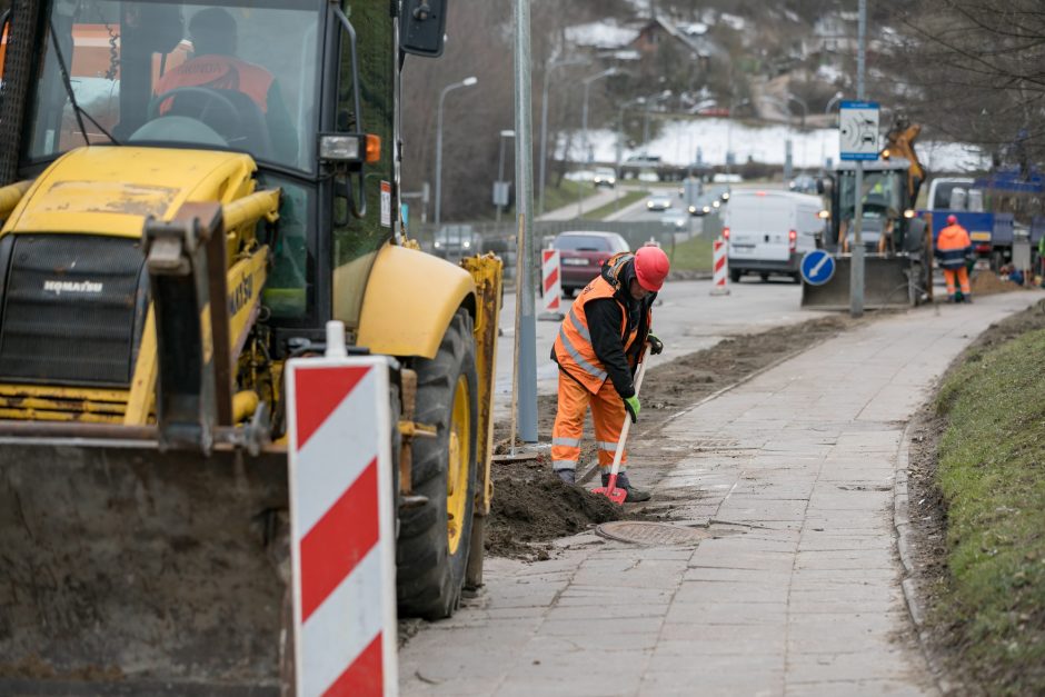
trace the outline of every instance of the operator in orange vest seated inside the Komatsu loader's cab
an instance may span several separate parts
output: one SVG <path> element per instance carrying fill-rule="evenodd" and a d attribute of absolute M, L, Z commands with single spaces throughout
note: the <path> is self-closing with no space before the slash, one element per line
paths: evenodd
<path fill-rule="evenodd" d="M 243 149 L 259 155 L 268 155 L 279 162 L 292 162 L 297 157 L 297 133 L 290 121 L 290 112 L 283 101 L 279 82 L 267 69 L 236 58 L 237 26 L 236 19 L 225 8 L 207 8 L 198 11 L 189 20 L 189 38 L 192 41 L 192 58 L 166 72 L 156 84 L 158 97 L 179 88 L 202 88 L 215 90 L 219 97 L 232 102 L 239 113 L 231 116 L 233 122 L 249 125 L 255 108 L 263 116 L 267 133 L 262 142 L 250 141 L 249 133 L 238 133 L 247 139 Z M 245 103 L 242 97 L 247 98 Z M 199 102 L 199 97 L 183 92 L 171 96 L 160 106 L 160 113 L 179 113 L 182 98 Z M 218 103 L 205 103 L 195 111 L 216 118 L 222 111 Z M 172 103 L 173 102 L 173 103 Z M 225 111 L 228 111 L 226 106 Z M 201 120 L 206 120 L 202 116 Z M 246 128 L 246 126 L 245 126 Z M 256 137 L 258 135 L 255 135 Z M 231 141 L 236 147 L 239 143 Z M 270 150 L 270 152 L 266 152 Z"/>

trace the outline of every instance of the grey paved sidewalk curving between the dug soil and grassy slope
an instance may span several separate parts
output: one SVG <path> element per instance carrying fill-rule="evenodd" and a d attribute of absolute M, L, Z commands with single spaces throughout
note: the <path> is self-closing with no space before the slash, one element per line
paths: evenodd
<path fill-rule="evenodd" d="M 404 648 L 402 694 L 935 695 L 900 589 L 897 452 L 951 360 L 1041 297 L 885 317 L 639 428 L 633 479 L 718 537 L 489 560 L 480 598 Z"/>

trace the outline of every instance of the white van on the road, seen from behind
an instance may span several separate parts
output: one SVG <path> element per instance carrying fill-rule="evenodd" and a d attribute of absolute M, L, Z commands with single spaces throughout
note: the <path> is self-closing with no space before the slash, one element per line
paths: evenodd
<path fill-rule="evenodd" d="M 770 273 L 802 280 L 799 265 L 807 251 L 816 248 L 816 235 L 823 232 L 818 196 L 755 189 L 734 189 L 726 206 L 723 237 L 728 241 L 729 280 L 745 273 Z"/>

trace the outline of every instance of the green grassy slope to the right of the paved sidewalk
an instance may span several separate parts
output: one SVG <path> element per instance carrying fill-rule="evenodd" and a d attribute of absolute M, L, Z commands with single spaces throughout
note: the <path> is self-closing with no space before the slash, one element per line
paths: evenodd
<path fill-rule="evenodd" d="M 1045 694 L 1045 330 L 973 352 L 944 385 L 940 617 L 991 694 Z"/>

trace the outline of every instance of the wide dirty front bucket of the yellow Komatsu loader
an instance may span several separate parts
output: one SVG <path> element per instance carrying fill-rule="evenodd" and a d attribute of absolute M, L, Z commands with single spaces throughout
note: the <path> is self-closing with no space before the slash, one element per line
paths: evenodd
<path fill-rule="evenodd" d="M 83 430 L 0 437 L 0 694 L 279 695 L 286 454 Z"/>

